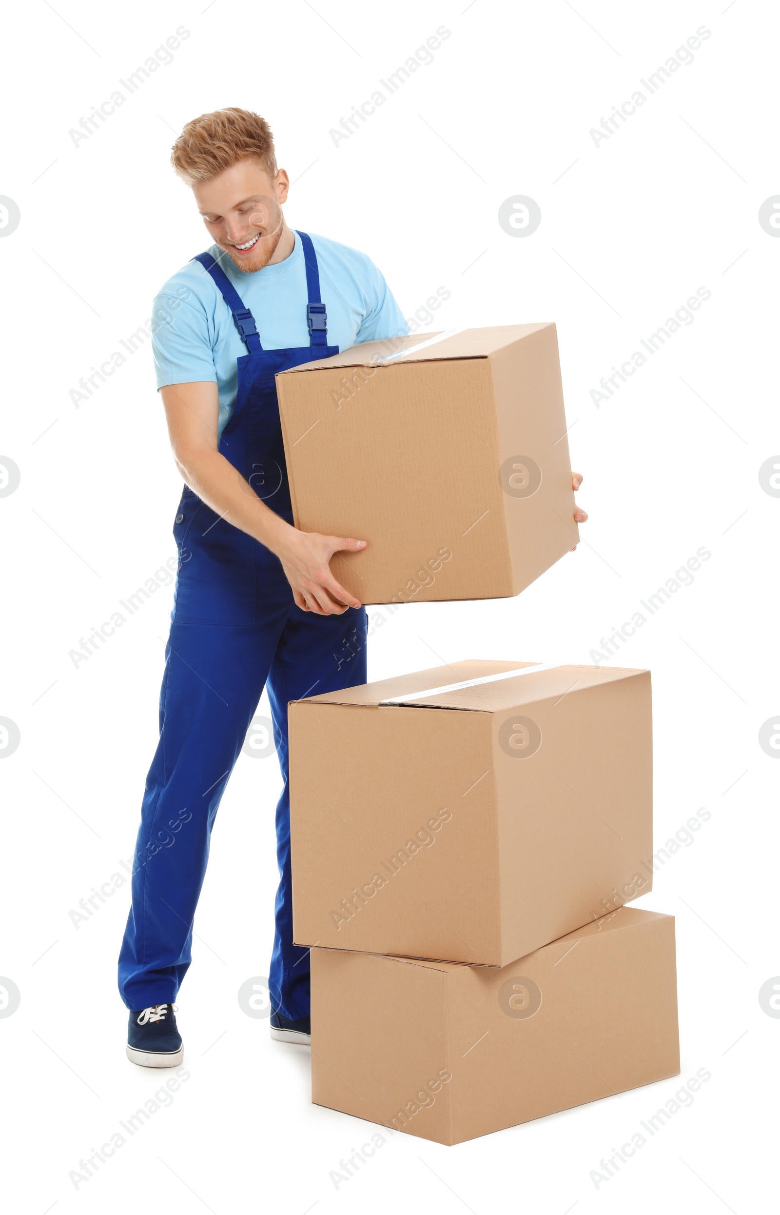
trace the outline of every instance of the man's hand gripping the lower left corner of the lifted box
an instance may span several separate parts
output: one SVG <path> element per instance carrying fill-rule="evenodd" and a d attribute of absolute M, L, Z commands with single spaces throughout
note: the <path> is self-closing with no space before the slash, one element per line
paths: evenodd
<path fill-rule="evenodd" d="M 360 553 L 364 548 L 364 539 L 321 536 L 295 527 L 289 527 L 275 546 L 295 604 L 316 616 L 340 616 L 347 608 L 361 606 L 330 573 L 330 558 L 334 553 Z"/>

